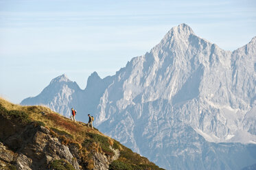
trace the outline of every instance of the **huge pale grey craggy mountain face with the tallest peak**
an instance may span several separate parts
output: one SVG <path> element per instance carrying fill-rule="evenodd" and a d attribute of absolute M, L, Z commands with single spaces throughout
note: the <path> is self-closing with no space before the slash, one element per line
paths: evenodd
<path fill-rule="evenodd" d="M 73 106 L 95 114 L 102 132 L 165 169 L 256 163 L 256 37 L 224 51 L 181 24 L 112 77 L 93 73 L 75 93 L 80 98 L 67 104 L 78 100 Z M 21 104 L 61 107 L 44 97 Z"/>

